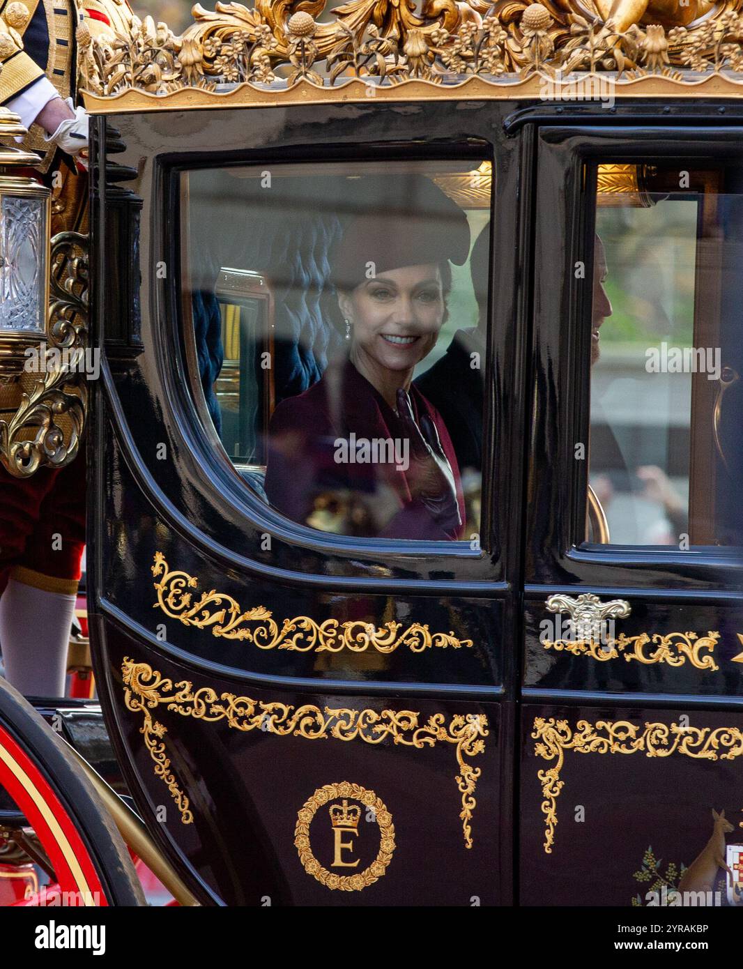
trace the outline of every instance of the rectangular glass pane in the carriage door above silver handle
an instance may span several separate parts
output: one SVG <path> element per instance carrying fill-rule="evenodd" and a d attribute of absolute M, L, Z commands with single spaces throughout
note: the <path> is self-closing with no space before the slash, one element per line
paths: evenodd
<path fill-rule="evenodd" d="M 589 541 L 743 545 L 743 170 L 594 177 Z"/>

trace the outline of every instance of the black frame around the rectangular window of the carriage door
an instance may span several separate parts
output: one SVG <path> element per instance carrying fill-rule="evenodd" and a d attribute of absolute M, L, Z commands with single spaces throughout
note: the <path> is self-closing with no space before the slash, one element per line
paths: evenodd
<path fill-rule="evenodd" d="M 616 133 L 614 129 L 614 133 Z M 630 137 L 630 131 L 627 136 Z M 567 359 L 569 380 L 573 389 L 571 401 L 571 424 L 574 429 L 575 442 L 590 441 L 591 431 L 591 363 L 590 363 L 590 322 L 593 313 L 593 285 L 580 286 L 573 274 L 573 266 L 580 258 L 580 254 L 588 253 L 585 259 L 585 278 L 593 280 L 596 247 L 594 236 L 597 225 L 597 176 L 600 165 L 657 165 L 663 162 L 665 166 L 678 161 L 681 169 L 686 169 L 690 162 L 694 162 L 697 169 L 708 166 L 710 169 L 721 168 L 734 164 L 736 156 L 743 165 L 743 129 L 738 129 L 740 141 L 732 144 L 713 143 L 705 145 L 703 150 L 697 151 L 697 145 L 684 142 L 682 138 L 674 138 L 672 129 L 659 131 L 659 138 L 663 139 L 659 146 L 662 150 L 650 152 L 641 150 L 637 146 L 622 150 L 617 146 L 606 143 L 582 144 L 577 146 L 573 154 L 574 172 L 580 180 L 580 191 L 576 198 L 580 200 L 578 212 L 568 212 L 568 218 L 573 214 L 576 231 L 573 239 L 566 245 L 566 271 L 571 279 L 570 305 L 571 326 L 568 328 Z M 698 138 L 698 133 L 697 138 Z M 698 144 L 698 142 L 697 142 Z M 663 149 L 668 149 L 667 151 Z M 697 238 L 698 241 L 698 238 Z M 741 546 L 718 545 L 690 545 L 682 550 L 675 546 L 664 545 L 628 545 L 622 543 L 600 543 L 581 539 L 586 534 L 590 492 L 588 488 L 590 475 L 590 461 L 573 460 L 573 454 L 566 455 L 570 460 L 569 470 L 570 502 L 567 520 L 569 543 L 566 558 L 575 562 L 595 563 L 607 565 L 611 560 L 615 563 L 621 558 L 622 564 L 675 565 L 689 564 L 692 561 L 710 562 L 715 560 L 738 562 L 741 556 Z M 701 564 L 701 562 L 700 562 Z"/>

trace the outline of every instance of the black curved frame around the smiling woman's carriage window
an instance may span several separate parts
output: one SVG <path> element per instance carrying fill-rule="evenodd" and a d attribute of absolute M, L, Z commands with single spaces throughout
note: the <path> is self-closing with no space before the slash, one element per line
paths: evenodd
<path fill-rule="evenodd" d="M 497 514 L 486 501 L 486 496 L 492 493 L 493 482 L 497 477 L 495 467 L 495 424 L 497 420 L 496 407 L 493 406 L 492 394 L 483 394 L 483 439 L 486 452 L 483 453 L 481 470 L 481 510 L 479 522 L 479 547 L 473 547 L 469 537 L 456 541 L 447 540 L 418 540 L 418 539 L 390 539 L 377 537 L 347 536 L 314 529 L 310 525 L 293 521 L 284 516 L 268 503 L 263 496 L 253 488 L 239 473 L 239 469 L 230 459 L 222 441 L 220 440 L 213 422 L 206 408 L 205 397 L 199 379 L 199 368 L 196 350 L 196 337 L 193 317 L 190 310 L 190 300 L 184 298 L 184 241 L 183 227 L 187 213 L 185 195 L 185 179 L 182 175 L 187 172 L 204 169 L 240 168 L 260 165 L 266 169 L 276 170 L 279 167 L 302 165 L 318 165 L 334 163 L 354 163 L 378 165 L 384 162 L 416 161 L 421 165 L 428 162 L 455 161 L 467 162 L 472 160 L 480 165 L 489 162 L 492 181 L 489 193 L 488 217 L 490 225 L 489 238 L 489 271 L 487 282 L 488 313 L 485 328 L 486 360 L 484 369 L 484 385 L 489 387 L 494 380 L 494 356 L 496 352 L 493 321 L 493 269 L 495 266 L 494 249 L 494 209 L 496 200 L 495 186 L 497 184 L 497 163 L 495 145 L 492 141 L 469 139 L 468 141 L 437 141 L 435 144 L 424 144 L 420 141 L 410 143 L 395 142 L 379 144 L 368 142 L 366 150 L 355 145 L 351 148 L 338 146 L 321 146 L 317 149 L 304 146 L 302 149 L 289 149 L 286 153 L 273 151 L 270 154 L 245 150 L 240 152 L 213 152 L 204 156 L 203 153 L 189 153 L 177 158 L 159 159 L 159 173 L 162 193 L 161 214 L 164 216 L 164 227 L 161 238 L 162 251 L 166 254 L 168 265 L 175 266 L 175 271 L 168 274 L 165 280 L 165 295 L 167 312 L 175 328 L 176 342 L 179 351 L 178 369 L 182 380 L 176 382 L 173 390 L 178 393 L 181 412 L 192 419 L 192 433 L 190 446 L 196 456 L 209 461 L 215 461 L 223 471 L 222 480 L 232 485 L 230 496 L 235 504 L 243 509 L 243 513 L 251 521 L 263 521 L 270 531 L 274 523 L 280 526 L 286 536 L 298 543 L 311 544 L 314 547 L 325 547 L 337 551 L 354 550 L 379 554 L 389 551 L 395 555 L 405 557 L 419 557 L 430 555 L 442 559 L 454 556 L 459 559 L 475 561 L 499 561 L 503 556 L 502 539 L 495 534 Z M 170 232 L 165 227 L 170 225 Z M 227 472 L 227 475 L 224 474 Z"/>

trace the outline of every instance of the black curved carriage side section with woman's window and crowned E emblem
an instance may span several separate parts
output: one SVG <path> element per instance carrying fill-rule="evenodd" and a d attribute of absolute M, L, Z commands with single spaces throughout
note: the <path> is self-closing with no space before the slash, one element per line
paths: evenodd
<path fill-rule="evenodd" d="M 98 124 L 92 624 L 142 816 L 205 901 L 508 903 L 521 140 L 464 102 Z"/>

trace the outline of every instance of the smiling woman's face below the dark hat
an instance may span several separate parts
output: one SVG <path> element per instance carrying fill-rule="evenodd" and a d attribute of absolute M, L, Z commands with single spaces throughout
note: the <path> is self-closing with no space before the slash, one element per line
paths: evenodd
<path fill-rule="evenodd" d="M 354 349 L 387 370 L 410 370 L 433 349 L 446 305 L 439 266 L 390 269 L 338 297 Z"/>

